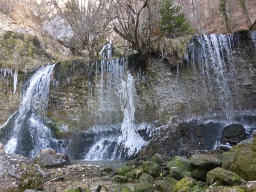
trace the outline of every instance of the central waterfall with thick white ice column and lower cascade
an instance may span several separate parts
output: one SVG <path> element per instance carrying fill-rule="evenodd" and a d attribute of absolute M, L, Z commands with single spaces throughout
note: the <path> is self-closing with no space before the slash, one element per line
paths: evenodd
<path fill-rule="evenodd" d="M 115 132 L 111 137 L 104 137 L 102 133 L 103 136 L 94 140 L 89 151 L 85 153 L 85 160 L 120 159 L 122 152 L 120 152 L 118 144 L 126 148 L 127 156 L 130 157 L 139 152 L 146 144 L 146 141 L 138 133 L 138 125 L 135 124 L 133 76 L 127 69 L 124 57 L 111 58 L 111 46 L 111 43 L 106 44 L 100 51 L 100 55 L 104 59 L 96 62 L 96 78 L 100 76 L 97 83 L 100 86 L 100 110 L 109 111 L 109 107 L 121 105 L 123 122 L 121 129 L 118 129 L 121 131 L 121 136 L 118 137 Z M 109 152 L 112 153 L 111 157 L 106 155 Z"/>

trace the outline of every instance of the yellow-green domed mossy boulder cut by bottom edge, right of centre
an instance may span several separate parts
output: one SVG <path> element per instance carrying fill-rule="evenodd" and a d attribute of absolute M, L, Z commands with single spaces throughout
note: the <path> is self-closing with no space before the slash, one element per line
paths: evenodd
<path fill-rule="evenodd" d="M 175 192 L 199 192 L 203 191 L 197 182 L 191 177 L 184 177 L 182 180 L 178 181 L 174 186 Z"/>

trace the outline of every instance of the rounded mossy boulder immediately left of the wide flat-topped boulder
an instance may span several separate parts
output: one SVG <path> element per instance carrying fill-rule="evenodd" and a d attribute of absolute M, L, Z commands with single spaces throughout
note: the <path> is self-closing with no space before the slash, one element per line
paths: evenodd
<path fill-rule="evenodd" d="M 167 163 L 167 167 L 171 169 L 172 167 L 179 168 L 180 170 L 191 170 L 192 164 L 191 162 L 185 157 L 174 157 L 171 161 Z"/>

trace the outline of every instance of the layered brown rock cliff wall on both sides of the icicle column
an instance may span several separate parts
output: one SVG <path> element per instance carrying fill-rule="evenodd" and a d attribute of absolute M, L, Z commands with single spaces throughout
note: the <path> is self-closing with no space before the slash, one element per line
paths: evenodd
<path fill-rule="evenodd" d="M 209 69 L 207 73 L 213 78 L 205 82 L 208 80 L 204 80 L 207 77 L 204 77 L 206 75 L 201 70 L 206 70 L 208 66 L 200 69 L 197 60 L 193 64 L 189 62 L 189 66 L 181 66 L 178 74 L 176 69 L 171 70 L 166 63 L 154 58 L 150 59 L 146 67 L 140 62 L 136 66 L 130 64 L 129 69 L 136 87 L 134 103 L 137 122 L 154 123 L 157 120 L 160 124 L 166 124 L 175 119 L 199 115 L 223 115 L 224 118 L 229 118 L 226 114 L 228 112 L 235 116 L 237 112 L 254 110 L 254 42 L 248 32 L 235 34 L 234 40 L 237 42 L 230 45 L 233 47 L 228 50 L 232 60 L 224 62 L 228 59 L 221 59 L 222 64 L 226 65 L 224 87 L 216 85 L 221 84 L 218 81 L 224 77 L 214 77 L 214 73 L 222 69 L 217 68 L 216 72 Z M 227 51 L 224 48 L 223 50 Z M 208 65 L 216 65 L 210 59 Z M 121 123 L 122 103 L 117 96 L 119 82 L 110 80 L 114 70 L 121 70 L 123 67 L 120 63 L 117 65 L 109 64 L 109 71 L 102 73 L 100 65 L 86 64 L 82 60 L 60 62 L 55 68 L 54 89 L 49 94 L 49 118 L 82 130 L 95 124 Z"/>

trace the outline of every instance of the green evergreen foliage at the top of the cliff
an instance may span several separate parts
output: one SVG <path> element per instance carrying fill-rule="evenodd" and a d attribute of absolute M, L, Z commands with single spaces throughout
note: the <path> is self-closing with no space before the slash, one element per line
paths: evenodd
<path fill-rule="evenodd" d="M 192 34 L 188 20 L 184 13 L 180 13 L 180 6 L 174 5 L 174 0 L 166 0 L 160 9 L 160 30 L 166 37 Z"/>

